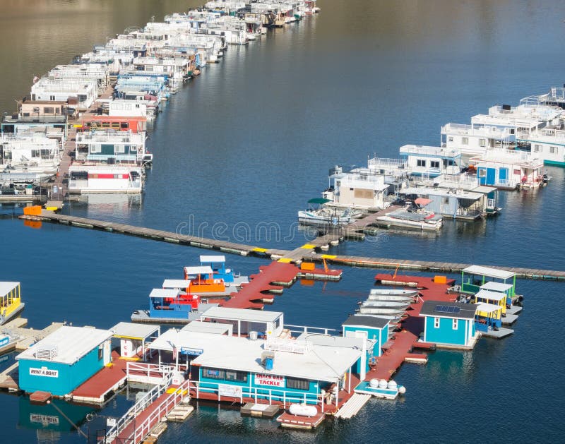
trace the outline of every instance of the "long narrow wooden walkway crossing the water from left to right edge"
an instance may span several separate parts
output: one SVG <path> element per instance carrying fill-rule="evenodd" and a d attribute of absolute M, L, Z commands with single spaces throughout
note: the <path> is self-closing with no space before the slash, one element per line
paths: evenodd
<path fill-rule="evenodd" d="M 335 256 L 331 254 L 316 253 L 321 242 L 313 241 L 309 244 L 299 246 L 292 251 L 276 248 L 261 248 L 246 244 L 237 244 L 230 241 L 220 241 L 216 239 L 206 239 L 203 237 L 189 236 L 187 234 L 178 234 L 175 232 L 166 232 L 164 230 L 152 229 L 146 227 L 136 227 L 135 225 L 120 224 L 117 222 L 107 222 L 103 220 L 93 220 L 85 217 L 76 217 L 69 215 L 61 215 L 56 212 L 43 210 L 40 216 L 20 216 L 22 219 L 42 220 L 44 222 L 56 222 L 60 224 L 68 224 L 73 227 L 100 229 L 106 232 L 114 232 L 128 234 L 130 236 L 144 237 L 145 239 L 154 239 L 157 241 L 172 242 L 194 246 L 197 248 L 219 250 L 224 253 L 238 254 L 241 256 L 261 256 L 265 258 L 278 259 L 285 262 L 301 263 L 302 261 L 323 262 L 338 265 L 348 265 L 354 267 L 368 268 L 387 268 L 398 270 L 412 270 L 417 272 L 443 272 L 457 273 L 467 268 L 468 263 L 448 263 L 433 260 L 408 260 L 395 258 L 367 258 L 361 256 Z M 324 241 L 327 239 L 323 239 Z M 505 267 L 492 264 L 475 264 L 485 265 L 499 270 L 507 270 L 515 272 L 518 277 L 533 280 L 557 280 L 565 282 L 564 270 L 540 270 L 537 268 L 518 268 Z"/>

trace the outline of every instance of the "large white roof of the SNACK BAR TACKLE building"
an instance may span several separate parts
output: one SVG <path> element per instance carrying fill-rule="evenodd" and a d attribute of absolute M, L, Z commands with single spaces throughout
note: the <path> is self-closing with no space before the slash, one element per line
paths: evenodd
<path fill-rule="evenodd" d="M 304 344 L 305 341 L 299 342 Z M 171 329 L 149 347 L 169 352 L 173 345 L 177 349 L 202 349 L 203 354 L 192 361 L 199 366 L 328 382 L 337 382 L 361 356 L 361 349 L 310 343 L 304 354 L 274 352 L 273 370 L 267 371 L 261 366 L 265 344 L 265 340 Z"/>

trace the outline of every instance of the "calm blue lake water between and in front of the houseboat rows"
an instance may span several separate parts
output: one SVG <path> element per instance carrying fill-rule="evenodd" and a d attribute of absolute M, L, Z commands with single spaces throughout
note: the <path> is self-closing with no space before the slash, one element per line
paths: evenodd
<path fill-rule="evenodd" d="M 296 210 L 326 186 L 333 164 L 396 157 L 405 143 L 437 144 L 449 121 L 468 123 L 495 103 L 516 104 L 565 81 L 565 6 L 546 1 L 320 1 L 322 13 L 249 47 L 230 47 L 167 104 L 148 145 L 155 164 L 143 200 L 108 198 L 66 211 L 258 246 L 305 241 Z M 502 215 L 446 222 L 440 236 L 380 232 L 334 249 L 343 254 L 565 269 L 565 171 L 545 189 L 500 193 Z M 11 212 L 9 208 L 3 210 Z M 165 277 L 180 277 L 202 251 L 103 232 L 1 220 L 1 280 L 19 280 L 25 317 L 109 328 L 146 304 Z M 229 256 L 244 274 L 265 260 Z M 273 309 L 287 323 L 340 328 L 378 270 L 347 268 L 338 283 L 296 284 Z M 316 433 L 281 431 L 237 410 L 199 405 L 163 443 L 560 441 L 563 284 L 521 281 L 515 334 L 472 352 L 435 352 L 406 364 L 398 402 L 372 401 L 351 421 Z M 1 364 L 0 364 L 1 365 Z M 18 424 L 17 397 L 2 396 L 4 424 Z M 119 397 L 99 415 L 119 414 Z M 527 407 L 526 407 L 527 406 Z M 93 424 L 95 421 L 93 421 Z M 88 424 L 83 427 L 86 428 Z M 4 428 L 21 443 L 35 430 Z M 11 431 L 10 431 L 11 430 Z M 541 438 L 542 437 L 542 438 Z M 76 433 L 57 440 L 81 442 Z"/>

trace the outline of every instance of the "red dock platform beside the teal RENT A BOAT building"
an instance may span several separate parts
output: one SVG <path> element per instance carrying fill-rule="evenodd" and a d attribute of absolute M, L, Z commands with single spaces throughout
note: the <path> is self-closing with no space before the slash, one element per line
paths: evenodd
<path fill-rule="evenodd" d="M 72 393 L 73 401 L 85 404 L 102 404 L 112 392 L 126 382 L 126 359 L 119 359 L 119 354 L 112 352 L 112 366 L 102 368 L 94 376 L 85 380 Z"/>

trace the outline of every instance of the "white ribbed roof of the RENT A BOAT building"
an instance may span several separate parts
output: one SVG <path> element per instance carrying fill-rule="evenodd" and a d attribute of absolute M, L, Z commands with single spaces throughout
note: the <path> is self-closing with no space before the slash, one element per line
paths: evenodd
<path fill-rule="evenodd" d="M 32 359 L 33 361 L 47 361 L 35 357 L 35 352 L 41 349 L 52 349 L 57 347 L 57 355 L 49 362 L 61 364 L 74 364 L 85 354 L 98 347 L 102 342 L 112 337 L 112 331 L 99 330 L 88 327 L 71 327 L 63 325 L 51 335 L 44 337 L 24 352 L 16 356 L 16 359 Z"/>

